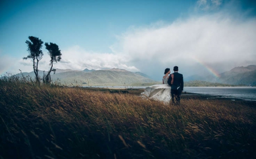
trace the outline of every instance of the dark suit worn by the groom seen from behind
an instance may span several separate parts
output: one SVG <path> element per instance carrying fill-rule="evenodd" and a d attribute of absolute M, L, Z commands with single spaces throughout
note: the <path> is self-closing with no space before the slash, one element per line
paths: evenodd
<path fill-rule="evenodd" d="M 174 74 L 174 83 L 172 83 L 171 85 L 172 103 L 175 103 L 174 102 L 174 97 L 175 97 L 177 104 L 180 104 L 180 94 L 183 91 L 183 85 L 184 85 L 183 75 L 178 72 L 174 72 L 173 74 Z"/>

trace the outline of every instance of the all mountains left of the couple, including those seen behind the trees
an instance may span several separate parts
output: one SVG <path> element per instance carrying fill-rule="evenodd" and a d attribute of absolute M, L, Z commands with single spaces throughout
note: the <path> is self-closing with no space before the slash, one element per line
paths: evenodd
<path fill-rule="evenodd" d="M 46 74 L 47 72 L 45 72 Z M 39 71 L 39 76 L 42 77 L 43 71 Z M 24 72 L 15 76 L 30 76 L 35 78 L 34 71 Z M 55 74 L 51 72 L 51 79 L 53 82 L 67 84 L 67 85 L 134 85 L 134 84 L 156 84 L 158 81 L 152 80 L 147 75 L 141 72 L 130 72 L 127 70 L 112 68 L 106 70 L 88 70 L 87 68 L 82 71 L 77 70 L 61 70 L 56 69 Z"/>

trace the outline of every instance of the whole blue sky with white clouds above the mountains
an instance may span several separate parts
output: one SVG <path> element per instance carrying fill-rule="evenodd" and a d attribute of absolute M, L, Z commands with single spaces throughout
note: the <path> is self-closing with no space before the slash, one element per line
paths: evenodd
<path fill-rule="evenodd" d="M 0 75 L 31 72 L 28 36 L 57 44 L 53 68 L 122 68 L 162 80 L 256 65 L 256 1 L 1 0 Z M 48 71 L 43 45 L 39 70 Z M 172 71 L 173 72 L 173 71 Z"/>

